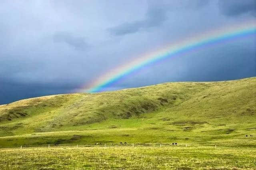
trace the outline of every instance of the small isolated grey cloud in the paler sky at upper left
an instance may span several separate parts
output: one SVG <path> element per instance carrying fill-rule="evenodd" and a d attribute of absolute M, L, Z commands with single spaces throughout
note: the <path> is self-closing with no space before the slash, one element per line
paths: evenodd
<path fill-rule="evenodd" d="M 84 50 L 88 47 L 83 37 L 73 36 L 67 32 L 56 32 L 53 36 L 54 42 L 64 42 L 78 50 Z"/>

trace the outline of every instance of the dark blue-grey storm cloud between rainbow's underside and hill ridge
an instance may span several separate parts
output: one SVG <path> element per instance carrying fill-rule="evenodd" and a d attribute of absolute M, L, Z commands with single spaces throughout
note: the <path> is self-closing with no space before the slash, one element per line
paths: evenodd
<path fill-rule="evenodd" d="M 223 81 L 256 76 L 256 39 L 171 57 L 145 67 L 119 83 L 119 88 L 141 87 L 168 81 Z M 157 71 L 156 71 L 157 70 Z M 147 75 L 147 76 L 145 76 Z M 136 84 L 132 83 L 136 81 Z"/>

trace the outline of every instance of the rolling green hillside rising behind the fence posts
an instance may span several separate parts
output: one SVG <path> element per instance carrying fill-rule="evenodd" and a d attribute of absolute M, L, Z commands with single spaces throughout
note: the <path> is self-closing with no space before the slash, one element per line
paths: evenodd
<path fill-rule="evenodd" d="M 256 77 L 52 95 L 0 105 L 0 147 L 119 142 L 255 147 Z"/>

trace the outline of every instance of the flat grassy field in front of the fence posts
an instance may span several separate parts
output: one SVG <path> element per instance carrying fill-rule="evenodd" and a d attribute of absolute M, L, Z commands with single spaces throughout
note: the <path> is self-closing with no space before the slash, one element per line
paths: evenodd
<path fill-rule="evenodd" d="M 3 169 L 256 169 L 256 148 L 107 146 L 0 149 Z"/>

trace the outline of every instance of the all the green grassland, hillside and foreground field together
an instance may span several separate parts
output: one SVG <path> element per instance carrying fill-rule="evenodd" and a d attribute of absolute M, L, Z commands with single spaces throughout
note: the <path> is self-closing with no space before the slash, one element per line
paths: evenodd
<path fill-rule="evenodd" d="M 0 105 L 5 169 L 255 169 L 255 147 L 256 77 Z"/>

